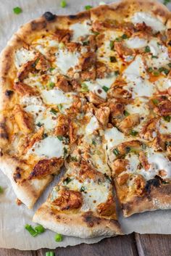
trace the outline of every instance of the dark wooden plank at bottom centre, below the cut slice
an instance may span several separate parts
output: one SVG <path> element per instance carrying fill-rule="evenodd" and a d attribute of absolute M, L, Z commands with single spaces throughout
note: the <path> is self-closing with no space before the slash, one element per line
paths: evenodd
<path fill-rule="evenodd" d="M 48 251 L 49 249 L 40 249 L 38 250 L 38 256 L 45 256 Z M 138 256 L 133 234 L 104 239 L 98 244 L 79 244 L 67 248 L 58 247 L 50 251 L 54 251 L 56 256 Z"/>

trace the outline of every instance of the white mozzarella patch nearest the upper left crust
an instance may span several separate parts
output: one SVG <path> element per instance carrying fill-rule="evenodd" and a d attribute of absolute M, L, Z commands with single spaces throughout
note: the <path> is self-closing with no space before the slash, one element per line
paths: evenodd
<path fill-rule="evenodd" d="M 17 49 L 14 56 L 14 63 L 17 69 L 19 69 L 23 64 L 33 60 L 36 54 L 34 51 L 29 51 L 25 48 Z"/>

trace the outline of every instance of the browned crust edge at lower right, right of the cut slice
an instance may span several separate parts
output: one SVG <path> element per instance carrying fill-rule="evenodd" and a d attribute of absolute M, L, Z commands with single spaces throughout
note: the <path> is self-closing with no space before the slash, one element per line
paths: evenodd
<path fill-rule="evenodd" d="M 135 213 L 167 210 L 171 208 L 171 184 L 165 184 L 159 187 L 152 187 L 149 193 L 144 196 L 134 196 L 122 203 L 122 212 L 124 217 L 129 217 Z"/>

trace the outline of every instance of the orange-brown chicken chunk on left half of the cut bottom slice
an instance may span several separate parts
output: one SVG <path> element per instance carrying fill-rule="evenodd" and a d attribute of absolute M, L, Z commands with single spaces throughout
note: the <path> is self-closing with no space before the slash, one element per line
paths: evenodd
<path fill-rule="evenodd" d="M 83 204 L 83 196 L 79 191 L 62 189 L 60 197 L 52 202 L 52 205 L 59 207 L 60 210 L 78 209 Z"/>

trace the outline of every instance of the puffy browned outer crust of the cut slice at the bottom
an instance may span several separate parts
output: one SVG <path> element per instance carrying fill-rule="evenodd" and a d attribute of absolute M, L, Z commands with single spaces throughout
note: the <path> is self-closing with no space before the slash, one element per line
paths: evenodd
<path fill-rule="evenodd" d="M 117 220 L 100 218 L 92 212 L 85 213 L 54 213 L 49 202 L 45 202 L 33 216 L 33 222 L 45 228 L 67 236 L 92 238 L 95 236 L 115 236 L 122 234 Z"/>

